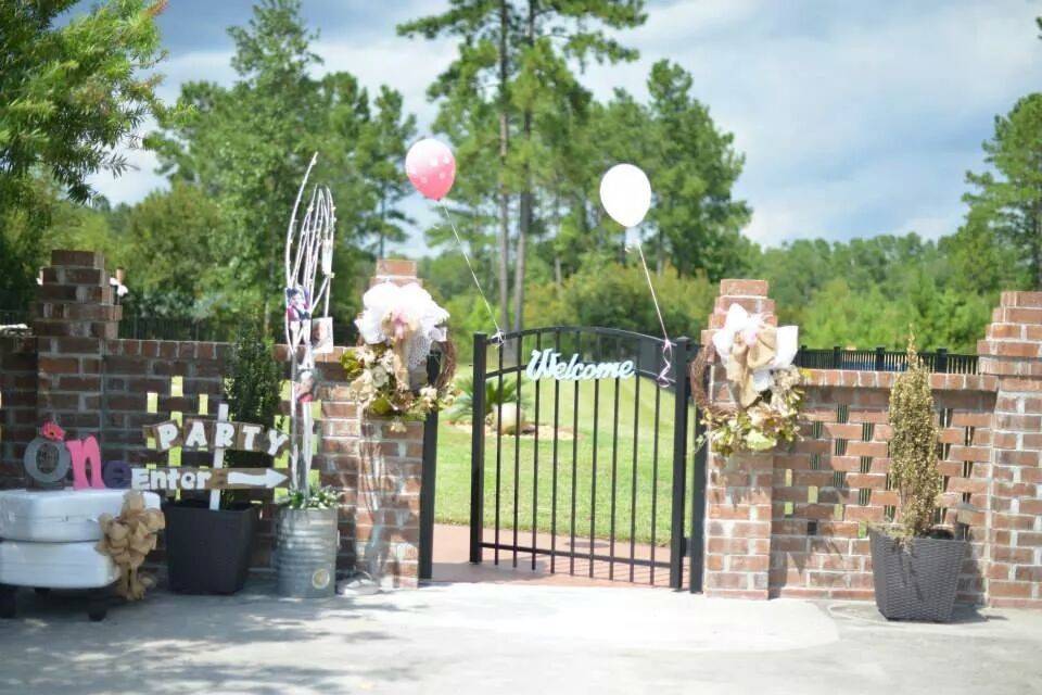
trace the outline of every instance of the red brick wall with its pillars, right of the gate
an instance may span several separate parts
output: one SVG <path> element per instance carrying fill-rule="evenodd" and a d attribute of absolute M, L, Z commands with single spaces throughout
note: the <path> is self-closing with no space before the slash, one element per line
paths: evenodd
<path fill-rule="evenodd" d="M 703 343 L 735 302 L 774 308 L 766 282 L 724 280 Z M 956 505 L 973 507 L 961 514 L 970 542 L 961 601 L 1042 607 L 1042 293 L 1003 293 L 978 352 L 979 376 L 931 377 L 939 520 L 953 523 Z M 812 370 L 803 440 L 792 451 L 730 465 L 709 457 L 708 594 L 872 598 L 867 525 L 886 521 L 898 503 L 887 445 L 894 377 Z"/>

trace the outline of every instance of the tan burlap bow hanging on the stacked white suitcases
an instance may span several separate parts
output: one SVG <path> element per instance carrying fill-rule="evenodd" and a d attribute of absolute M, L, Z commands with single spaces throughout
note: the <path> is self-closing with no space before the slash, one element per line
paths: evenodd
<path fill-rule="evenodd" d="M 131 490 L 123 498 L 123 510 L 118 517 L 103 514 L 98 522 L 101 525 L 98 552 L 110 556 L 119 568 L 116 593 L 127 601 L 142 598 L 144 591 L 155 582 L 151 577 L 140 577 L 138 568 L 145 556 L 155 549 L 155 534 L 166 527 L 163 513 L 145 509 L 144 495 Z"/>

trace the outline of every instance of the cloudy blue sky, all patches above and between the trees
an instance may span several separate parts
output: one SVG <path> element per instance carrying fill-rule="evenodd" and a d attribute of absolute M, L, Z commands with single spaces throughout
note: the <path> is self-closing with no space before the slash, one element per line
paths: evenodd
<path fill-rule="evenodd" d="M 398 38 L 402 20 L 440 11 L 436 0 L 304 0 L 319 29 L 322 70 L 350 71 L 368 86 L 402 91 L 422 126 L 424 90 L 452 60 L 450 41 Z M 244 24 L 246 0 L 170 0 L 161 16 L 169 60 L 161 93 L 186 80 L 230 83 L 226 27 Z M 648 22 L 621 38 L 633 64 L 594 66 L 585 84 L 644 96 L 650 65 L 669 58 L 695 78 L 697 97 L 746 154 L 736 194 L 753 208 L 745 229 L 768 245 L 798 238 L 849 239 L 917 231 L 937 238 L 962 219 L 967 169 L 995 114 L 1042 89 L 1042 0 L 659 0 Z M 115 202 L 164 181 L 155 160 L 118 180 L 94 179 Z M 639 164 L 639 163 L 637 163 Z M 460 172 L 466 176 L 466 172 Z M 418 197 L 410 212 L 423 214 Z M 422 252 L 419 236 L 407 244 Z"/>

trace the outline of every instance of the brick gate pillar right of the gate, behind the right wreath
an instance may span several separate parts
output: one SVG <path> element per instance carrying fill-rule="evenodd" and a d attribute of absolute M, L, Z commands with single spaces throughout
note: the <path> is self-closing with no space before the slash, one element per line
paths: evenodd
<path fill-rule="evenodd" d="M 770 314 L 768 321 L 777 324 L 774 300 L 767 299 L 765 281 L 722 280 L 709 329 L 702 331 L 703 345 L 723 328 L 732 304 L 740 304 L 751 313 Z M 713 370 L 710 388 L 714 402 L 733 403 L 722 367 Z M 765 599 L 771 566 L 774 456 L 742 455 L 728 462 L 710 452 L 707 468 L 706 595 Z"/>

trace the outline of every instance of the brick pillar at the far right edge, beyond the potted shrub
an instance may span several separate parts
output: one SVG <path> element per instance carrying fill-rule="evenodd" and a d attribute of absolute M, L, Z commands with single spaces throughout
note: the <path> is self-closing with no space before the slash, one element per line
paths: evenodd
<path fill-rule="evenodd" d="M 977 352 L 999 379 L 988 602 L 1042 608 L 1042 292 L 1003 292 Z"/>

